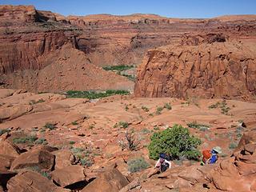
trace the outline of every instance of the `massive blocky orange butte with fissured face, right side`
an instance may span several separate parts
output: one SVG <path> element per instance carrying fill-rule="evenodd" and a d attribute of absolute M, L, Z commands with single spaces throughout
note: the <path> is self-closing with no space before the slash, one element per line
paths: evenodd
<path fill-rule="evenodd" d="M 240 98 L 256 94 L 255 49 L 249 42 L 204 42 L 149 50 L 138 68 L 137 97 Z"/>

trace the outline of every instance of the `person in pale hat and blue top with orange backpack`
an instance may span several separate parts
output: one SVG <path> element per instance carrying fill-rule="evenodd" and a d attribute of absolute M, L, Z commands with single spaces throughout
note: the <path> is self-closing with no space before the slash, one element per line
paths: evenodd
<path fill-rule="evenodd" d="M 202 151 L 202 162 L 204 164 L 214 164 L 218 161 L 218 154 L 222 153 L 222 148 L 219 146 L 214 147 L 212 150 L 203 150 Z"/>

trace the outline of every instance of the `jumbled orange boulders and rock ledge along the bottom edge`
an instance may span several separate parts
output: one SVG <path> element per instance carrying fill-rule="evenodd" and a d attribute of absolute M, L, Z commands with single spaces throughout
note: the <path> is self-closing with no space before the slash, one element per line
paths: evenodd
<path fill-rule="evenodd" d="M 2 134 L 0 191 L 255 191 L 256 132 L 244 134 L 234 154 L 216 165 L 176 166 L 162 174 L 153 168 L 131 179 L 116 165 L 93 172 L 67 150 L 51 146 L 22 150 Z"/>

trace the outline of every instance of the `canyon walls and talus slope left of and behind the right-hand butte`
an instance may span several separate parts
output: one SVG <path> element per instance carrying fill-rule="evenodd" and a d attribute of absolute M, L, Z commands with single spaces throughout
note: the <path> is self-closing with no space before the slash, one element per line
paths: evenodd
<path fill-rule="evenodd" d="M 133 86 L 125 78 L 90 69 L 90 66 L 83 66 L 86 73 L 76 78 L 72 76 L 78 69 L 69 68 L 73 73 L 64 81 L 63 77 L 70 73 L 57 68 L 62 60 L 58 55 L 66 44 L 70 45 L 70 53 L 77 53 L 73 49 L 78 49 L 86 54 L 84 62 L 72 61 L 79 67 L 85 63 L 138 65 L 146 50 L 184 40 L 186 44 L 187 40 L 195 44 L 198 40 L 191 38 L 194 35 L 198 35 L 199 41 L 201 36 L 217 32 L 230 40 L 250 40 L 256 35 L 254 15 L 178 19 L 154 14 L 99 14 L 65 18 L 50 11 L 35 10 L 34 6 L 0 6 L 0 18 L 0 86 L 33 91 L 130 89 Z M 218 38 L 220 41 L 222 37 Z M 73 66 L 72 62 L 67 65 Z M 58 74 L 53 74 L 53 70 L 58 70 Z M 94 81 L 97 76 L 104 83 Z M 113 82 L 120 83 L 113 85 Z M 125 85 L 120 86 L 122 83 Z"/>

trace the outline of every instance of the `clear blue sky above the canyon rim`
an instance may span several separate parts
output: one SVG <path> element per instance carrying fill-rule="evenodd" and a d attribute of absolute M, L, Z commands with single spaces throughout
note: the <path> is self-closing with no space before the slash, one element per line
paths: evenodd
<path fill-rule="evenodd" d="M 256 14 L 256 0 L 0 0 L 0 5 L 34 5 L 64 15 L 160 14 L 170 18 L 213 18 Z"/>

